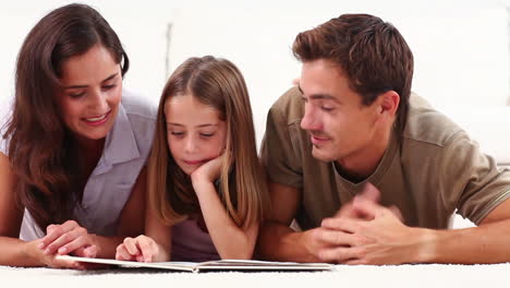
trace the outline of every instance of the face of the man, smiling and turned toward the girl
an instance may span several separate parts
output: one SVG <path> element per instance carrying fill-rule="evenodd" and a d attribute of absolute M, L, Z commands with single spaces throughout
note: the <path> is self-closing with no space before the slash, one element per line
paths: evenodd
<path fill-rule="evenodd" d="M 315 158 L 363 158 L 376 144 L 378 105 L 363 105 L 341 68 L 324 59 L 304 62 L 300 89 L 305 106 L 301 128 L 309 133 Z"/>

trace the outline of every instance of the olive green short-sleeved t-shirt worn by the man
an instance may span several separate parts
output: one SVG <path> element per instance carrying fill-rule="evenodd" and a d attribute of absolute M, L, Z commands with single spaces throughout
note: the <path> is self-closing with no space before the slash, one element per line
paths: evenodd
<path fill-rule="evenodd" d="M 295 216 L 302 229 L 320 226 L 366 182 L 379 189 L 382 205 L 396 205 L 412 227 L 448 228 L 456 208 L 479 224 L 510 196 L 510 171 L 498 168 L 461 128 L 417 95 L 411 95 L 403 133 L 393 131 L 376 170 L 359 183 L 342 178 L 335 163 L 312 156 L 309 135 L 300 128 L 303 112 L 293 87 L 269 110 L 262 146 L 270 181 L 302 193 Z"/>

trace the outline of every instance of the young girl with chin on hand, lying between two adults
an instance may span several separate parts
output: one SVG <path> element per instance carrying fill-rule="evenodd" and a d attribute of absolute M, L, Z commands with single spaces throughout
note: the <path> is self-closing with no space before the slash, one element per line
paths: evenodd
<path fill-rule="evenodd" d="M 267 187 L 246 85 L 230 61 L 191 58 L 170 76 L 147 181 L 147 236 L 125 238 L 118 260 L 252 257 Z"/>

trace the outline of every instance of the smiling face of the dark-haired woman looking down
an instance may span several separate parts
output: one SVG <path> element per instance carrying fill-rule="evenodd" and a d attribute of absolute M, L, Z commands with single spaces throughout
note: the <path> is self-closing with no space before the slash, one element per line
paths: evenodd
<path fill-rule="evenodd" d="M 62 63 L 60 117 L 77 139 L 100 140 L 113 127 L 122 95 L 120 64 L 101 45 Z"/>

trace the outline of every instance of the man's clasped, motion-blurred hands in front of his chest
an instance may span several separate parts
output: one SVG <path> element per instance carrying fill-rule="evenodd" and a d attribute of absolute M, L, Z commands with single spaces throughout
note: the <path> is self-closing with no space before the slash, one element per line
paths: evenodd
<path fill-rule="evenodd" d="M 421 229 L 403 225 L 400 214 L 369 201 L 356 197 L 352 209 L 363 219 L 333 217 L 323 220 L 329 238 L 342 244 L 321 249 L 323 261 L 344 264 L 401 264 L 417 261 L 426 236 Z M 324 237 L 326 238 L 326 237 Z"/>

